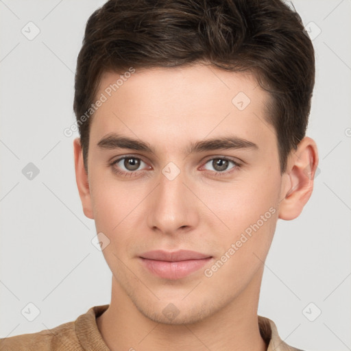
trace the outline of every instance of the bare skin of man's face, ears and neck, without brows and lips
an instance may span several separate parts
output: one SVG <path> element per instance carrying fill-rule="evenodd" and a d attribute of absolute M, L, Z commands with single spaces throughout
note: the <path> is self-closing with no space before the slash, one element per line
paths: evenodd
<path fill-rule="evenodd" d="M 106 72 L 97 96 L 118 78 Z M 239 92 L 251 100 L 244 110 L 232 104 Z M 280 174 L 276 132 L 264 119 L 268 99 L 250 74 L 202 64 L 136 70 L 92 117 L 88 174 L 80 139 L 75 139 L 84 214 L 110 240 L 103 254 L 112 271 L 111 302 L 97 318 L 110 350 L 267 350 L 257 324 L 263 263 L 278 219 L 298 217 L 311 196 L 318 163 L 315 142 L 305 137 Z M 112 132 L 145 141 L 155 153 L 97 146 Z M 185 151 L 192 142 L 229 134 L 258 149 Z M 112 171 L 131 172 L 123 160 L 109 164 L 125 155 L 143 161 L 135 176 Z M 215 156 L 241 166 L 229 162 L 221 171 L 213 165 Z M 169 162 L 180 170 L 173 180 L 162 173 Z M 221 172 L 226 174 L 214 175 Z M 269 208 L 275 213 L 206 277 L 204 269 Z M 168 280 L 138 260 L 141 253 L 158 249 L 193 250 L 213 258 L 185 278 Z M 179 311 L 173 319 L 162 313 L 170 303 Z"/>

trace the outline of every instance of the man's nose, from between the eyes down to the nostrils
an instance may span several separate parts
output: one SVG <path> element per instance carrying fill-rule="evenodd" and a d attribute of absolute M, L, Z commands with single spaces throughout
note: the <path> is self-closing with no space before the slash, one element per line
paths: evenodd
<path fill-rule="evenodd" d="M 150 228 L 172 233 L 180 227 L 195 225 L 196 214 L 184 181 L 184 174 L 175 163 L 169 162 L 162 169 L 148 211 Z"/>

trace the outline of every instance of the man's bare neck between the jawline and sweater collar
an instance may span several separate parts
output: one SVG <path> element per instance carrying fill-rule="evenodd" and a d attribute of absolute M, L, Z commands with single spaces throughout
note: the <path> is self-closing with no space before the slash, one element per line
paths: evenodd
<path fill-rule="evenodd" d="M 111 303 L 97 327 L 111 351 L 266 351 L 257 316 L 262 273 L 221 310 L 192 324 L 161 324 L 145 317 L 112 277 Z"/>

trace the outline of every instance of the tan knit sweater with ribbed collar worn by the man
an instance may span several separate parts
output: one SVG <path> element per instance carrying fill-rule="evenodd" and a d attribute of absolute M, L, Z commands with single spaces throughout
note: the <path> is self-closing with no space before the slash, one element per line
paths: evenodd
<path fill-rule="evenodd" d="M 1 351 L 110 351 L 99 332 L 96 318 L 108 304 L 94 306 L 80 315 L 75 322 L 68 322 L 50 330 L 32 334 L 16 335 L 0 339 Z M 276 324 L 271 319 L 258 316 L 261 336 L 268 344 L 267 351 L 302 351 L 292 348 L 278 335 Z"/>

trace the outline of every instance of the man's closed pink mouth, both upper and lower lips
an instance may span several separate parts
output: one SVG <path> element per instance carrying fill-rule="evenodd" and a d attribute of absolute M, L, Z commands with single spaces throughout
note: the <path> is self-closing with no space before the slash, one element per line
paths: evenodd
<path fill-rule="evenodd" d="M 213 256 L 189 250 L 167 252 L 155 250 L 139 256 L 141 264 L 152 274 L 169 280 L 177 280 L 192 274 L 212 260 Z"/>

